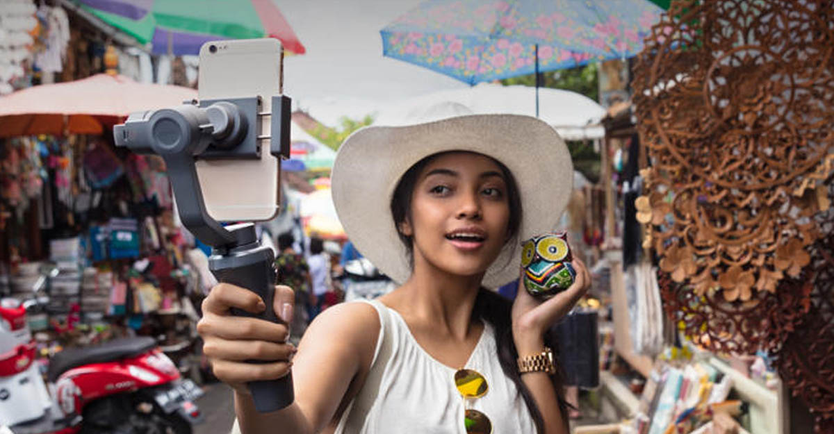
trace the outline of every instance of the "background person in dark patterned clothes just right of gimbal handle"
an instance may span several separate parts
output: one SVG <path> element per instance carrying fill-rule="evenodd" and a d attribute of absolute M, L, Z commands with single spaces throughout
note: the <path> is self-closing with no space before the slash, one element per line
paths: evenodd
<path fill-rule="evenodd" d="M 309 324 L 309 305 L 314 300 L 311 289 L 313 281 L 310 278 L 310 267 L 294 248 L 295 237 L 290 232 L 278 236 L 279 255 L 275 258 L 275 268 L 278 270 L 278 280 L 282 285 L 295 288 L 295 312 L 293 323 L 290 325 L 293 342 L 299 342 L 304 330 Z M 312 303 L 314 304 L 314 303 Z"/>

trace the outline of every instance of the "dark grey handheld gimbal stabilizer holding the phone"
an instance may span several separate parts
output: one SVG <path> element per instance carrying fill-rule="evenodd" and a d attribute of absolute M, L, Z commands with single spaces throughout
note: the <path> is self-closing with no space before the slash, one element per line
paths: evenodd
<path fill-rule="evenodd" d="M 266 303 L 266 312 L 252 315 L 235 309 L 235 315 L 278 322 L 273 310 L 274 254 L 261 246 L 254 224 L 223 227 L 208 215 L 200 190 L 197 168 L 201 158 L 260 158 L 260 139 L 270 138 L 269 152 L 289 157 L 289 97 L 272 98 L 271 137 L 259 137 L 261 98 L 187 102 L 179 107 L 132 113 L 113 127 L 116 146 L 141 154 L 163 157 L 173 187 L 179 217 L 200 241 L 214 247 L 208 267 L 219 282 L 248 288 Z M 294 400 L 291 375 L 279 380 L 250 382 L 255 407 L 273 412 Z"/>

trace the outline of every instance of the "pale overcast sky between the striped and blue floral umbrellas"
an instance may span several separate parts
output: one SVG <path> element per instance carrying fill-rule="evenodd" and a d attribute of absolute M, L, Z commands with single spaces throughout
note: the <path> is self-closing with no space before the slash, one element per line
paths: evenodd
<path fill-rule="evenodd" d="M 274 0 L 307 52 L 284 59 L 284 93 L 324 124 L 444 89 L 468 87 L 382 56 L 379 30 L 420 0 Z"/>

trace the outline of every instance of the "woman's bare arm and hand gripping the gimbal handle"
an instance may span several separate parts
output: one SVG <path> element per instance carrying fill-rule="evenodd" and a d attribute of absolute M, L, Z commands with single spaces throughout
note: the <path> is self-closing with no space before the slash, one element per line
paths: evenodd
<path fill-rule="evenodd" d="M 237 289 L 243 292 L 224 288 L 225 307 L 221 310 L 215 306 L 215 312 L 228 311 L 228 307 L 241 307 L 234 302 L 233 296 L 245 300 L 249 297 L 247 293 L 252 294 Z M 255 304 L 251 301 L 249 303 Z M 214 304 L 220 304 L 219 300 L 215 300 Z M 245 306 L 246 302 L 240 304 Z M 230 350 L 241 348 L 241 343 L 246 347 L 264 344 L 219 337 L 229 336 L 229 327 L 235 325 L 232 320 L 237 319 L 208 313 L 208 321 L 204 317 L 201 334 L 203 339 L 211 342 L 209 352 L 224 355 L 222 359 L 212 357 L 212 362 L 215 374 L 219 374 L 221 380 L 234 388 L 235 413 L 243 434 L 321 432 L 333 419 L 354 377 L 368 370 L 374 357 L 380 327 L 374 307 L 364 303 L 345 303 L 319 314 L 304 332 L 298 352 L 292 360 L 295 402 L 278 412 L 259 413 L 244 383 L 253 379 L 268 379 L 269 375 L 264 374 L 263 367 L 231 362 L 226 355 Z M 274 326 L 269 323 L 267 325 Z M 281 375 L 274 374 L 272 377 Z"/>

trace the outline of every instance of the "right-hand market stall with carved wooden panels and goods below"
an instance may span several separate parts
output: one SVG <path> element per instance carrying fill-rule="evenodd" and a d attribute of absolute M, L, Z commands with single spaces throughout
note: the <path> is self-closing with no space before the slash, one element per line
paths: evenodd
<path fill-rule="evenodd" d="M 830 10 L 730 3 L 671 2 L 602 120 L 606 432 L 831 432 Z"/>

